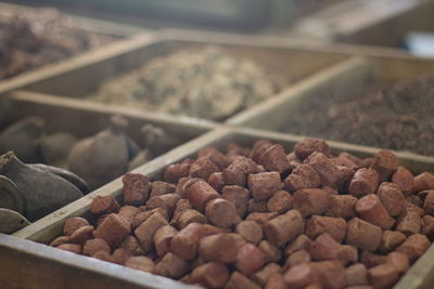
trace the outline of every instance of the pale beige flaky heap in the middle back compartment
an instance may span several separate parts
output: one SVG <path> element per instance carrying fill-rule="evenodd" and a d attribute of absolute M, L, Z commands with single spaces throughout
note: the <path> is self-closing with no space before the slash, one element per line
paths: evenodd
<path fill-rule="evenodd" d="M 209 45 L 178 51 L 108 79 L 90 98 L 217 120 L 272 96 L 278 82 L 254 61 Z"/>

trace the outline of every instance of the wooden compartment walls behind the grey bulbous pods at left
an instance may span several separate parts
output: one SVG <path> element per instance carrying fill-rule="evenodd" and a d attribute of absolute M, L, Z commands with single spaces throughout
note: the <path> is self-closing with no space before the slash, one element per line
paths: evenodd
<path fill-rule="evenodd" d="M 101 107 L 99 104 L 87 105 L 77 100 L 63 100 L 60 97 L 16 91 L 10 93 L 9 104 L 15 111 L 13 121 L 22 120 L 29 116 L 37 116 L 44 120 L 44 133 L 71 133 L 78 140 L 92 136 L 105 130 L 112 116 L 122 116 L 128 121 L 126 134 L 136 143 L 142 142 L 141 128 L 153 124 L 163 129 L 167 137 L 164 146 L 153 150 L 155 157 L 197 137 L 216 126 L 212 122 L 191 122 L 158 114 L 137 114 L 119 107 Z M 0 127 L 0 131 L 1 131 Z M 111 181 L 111 180 L 110 180 Z"/>

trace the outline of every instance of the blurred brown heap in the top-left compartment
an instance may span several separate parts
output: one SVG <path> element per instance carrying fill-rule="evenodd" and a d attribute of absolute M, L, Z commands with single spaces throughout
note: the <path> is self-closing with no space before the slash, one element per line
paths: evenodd
<path fill-rule="evenodd" d="M 1 8 L 0 79 L 58 62 L 114 40 L 71 27 L 55 9 Z"/>

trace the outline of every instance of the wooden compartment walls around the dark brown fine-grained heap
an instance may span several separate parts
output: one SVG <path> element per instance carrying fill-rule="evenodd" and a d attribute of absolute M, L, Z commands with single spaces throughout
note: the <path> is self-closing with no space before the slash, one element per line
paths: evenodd
<path fill-rule="evenodd" d="M 360 86 L 371 80 L 394 84 L 418 76 L 433 76 L 433 69 L 434 61 L 430 58 L 406 55 L 353 57 L 299 81 L 273 100 L 251 107 L 231 118 L 228 123 L 261 130 L 285 131 L 290 126 L 289 116 L 292 113 L 305 102 L 322 97 L 331 90 L 340 90 L 352 84 Z M 288 129 L 288 131 L 291 130 Z M 403 152 L 403 154 L 412 155 L 422 161 L 426 158 L 434 159 L 434 156 L 425 157 L 411 152 Z"/>

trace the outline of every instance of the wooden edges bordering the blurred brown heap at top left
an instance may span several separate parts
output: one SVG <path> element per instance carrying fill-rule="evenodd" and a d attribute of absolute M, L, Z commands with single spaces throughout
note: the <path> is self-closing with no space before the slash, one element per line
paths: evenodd
<path fill-rule="evenodd" d="M 0 2 L 0 10 L 8 9 L 8 8 L 29 9 L 29 8 L 23 6 L 23 5 Z M 118 24 L 118 23 L 93 19 L 93 18 L 82 17 L 82 16 L 71 15 L 71 14 L 65 14 L 65 16 L 68 16 L 69 25 L 72 28 L 77 28 L 79 30 L 89 31 L 92 34 L 100 34 L 100 35 L 106 35 L 106 36 L 114 37 L 115 40 L 112 43 L 108 43 L 110 47 L 114 45 L 117 41 L 122 41 L 123 39 L 126 39 L 126 38 L 131 38 L 132 36 L 137 35 L 137 34 L 143 34 L 145 31 L 144 29 L 139 28 L 139 27 Z M 87 58 L 87 55 L 89 55 L 89 54 L 91 55 L 90 57 L 93 57 L 92 55 L 95 52 L 98 53 L 100 50 L 105 50 L 105 48 L 106 47 L 94 48 L 94 49 L 85 51 L 82 53 L 78 53 L 69 58 L 65 58 L 65 60 L 56 62 L 56 63 L 50 63 L 50 64 L 40 66 L 39 68 L 22 73 L 12 78 L 2 79 L 2 80 L 0 80 L 0 94 L 5 93 L 8 91 L 18 89 L 21 87 L 28 86 L 29 83 L 39 81 L 41 79 L 49 78 L 53 74 L 59 73 L 59 65 L 62 64 L 63 62 L 65 62 L 65 61 L 72 62 L 72 63 L 80 62 L 80 60 L 82 57 Z M 60 66 L 62 67 L 62 65 L 60 65 Z"/>

